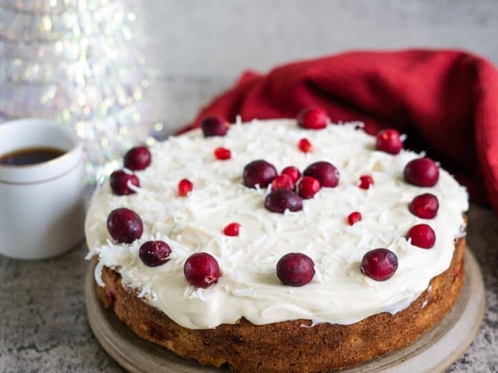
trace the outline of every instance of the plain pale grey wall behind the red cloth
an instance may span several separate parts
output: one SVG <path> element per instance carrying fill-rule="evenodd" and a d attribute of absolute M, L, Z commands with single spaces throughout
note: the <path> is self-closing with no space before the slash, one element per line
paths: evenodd
<path fill-rule="evenodd" d="M 199 101 L 192 96 L 203 95 L 205 104 L 246 68 L 264 72 L 356 48 L 463 48 L 498 63 L 497 0 L 141 3 L 147 57 L 160 73 L 153 82 L 156 116 L 169 128 L 194 117 Z M 172 106 L 178 97 L 185 100 Z"/>

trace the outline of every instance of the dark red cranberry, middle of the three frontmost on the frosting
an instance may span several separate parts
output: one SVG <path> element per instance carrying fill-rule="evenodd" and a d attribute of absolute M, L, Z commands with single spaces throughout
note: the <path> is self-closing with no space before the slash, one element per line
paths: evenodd
<path fill-rule="evenodd" d="M 306 285 L 315 276 L 315 263 L 301 253 L 289 253 L 277 262 L 277 277 L 284 285 Z"/>

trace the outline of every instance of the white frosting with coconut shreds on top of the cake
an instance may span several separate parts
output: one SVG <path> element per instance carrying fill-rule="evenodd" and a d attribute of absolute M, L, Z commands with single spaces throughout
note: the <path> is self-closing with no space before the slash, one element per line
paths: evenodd
<path fill-rule="evenodd" d="M 150 305 L 191 329 L 236 323 L 241 317 L 257 325 L 298 318 L 349 324 L 408 307 L 450 266 L 454 238 L 464 234 L 467 193 L 443 170 L 433 188 L 406 184 L 403 168 L 418 155 L 375 151 L 375 138 L 354 127 L 306 131 L 295 120 L 279 119 L 237 124 L 225 137 L 205 138 L 199 130 L 170 137 L 151 149 L 151 166 L 137 172 L 138 193 L 113 195 L 108 183 L 95 192 L 86 219 L 88 257 L 100 258 L 95 277 L 101 282 L 102 265 L 116 269 Z M 311 141 L 313 153 L 297 149 L 302 137 Z M 216 160 L 217 146 L 230 149 L 232 159 Z M 338 167 L 340 182 L 304 200 L 302 211 L 272 213 L 264 209 L 268 191 L 241 182 L 243 167 L 257 159 L 279 171 L 326 160 Z M 357 187 L 363 174 L 374 177 L 374 187 Z M 194 183 L 187 198 L 177 196 L 183 178 Z M 439 198 L 439 213 L 432 220 L 417 218 L 407 208 L 426 192 Z M 144 222 L 142 238 L 131 245 L 111 242 L 107 233 L 107 216 L 118 207 L 133 209 Z M 362 221 L 350 227 L 346 218 L 352 211 L 360 211 Z M 223 235 L 230 222 L 241 224 L 239 237 Z M 421 222 L 436 232 L 432 249 L 414 247 L 404 238 Z M 140 245 L 151 239 L 172 248 L 165 265 L 146 267 L 138 258 Z M 394 251 L 399 260 L 396 274 L 384 282 L 360 272 L 362 256 L 377 247 Z M 214 255 L 221 267 L 221 278 L 208 289 L 189 286 L 183 276 L 185 259 L 197 251 Z M 275 275 L 279 258 L 294 251 L 315 262 L 316 275 L 303 287 L 284 286 Z"/>

